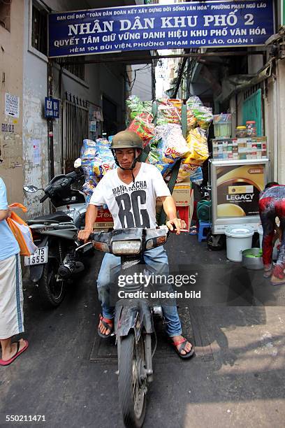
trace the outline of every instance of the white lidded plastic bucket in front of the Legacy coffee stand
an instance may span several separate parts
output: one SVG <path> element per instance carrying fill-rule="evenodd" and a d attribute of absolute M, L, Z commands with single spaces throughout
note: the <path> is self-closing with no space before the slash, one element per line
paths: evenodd
<path fill-rule="evenodd" d="M 226 227 L 226 257 L 232 262 L 242 262 L 242 251 L 251 248 L 254 229 L 250 226 Z"/>

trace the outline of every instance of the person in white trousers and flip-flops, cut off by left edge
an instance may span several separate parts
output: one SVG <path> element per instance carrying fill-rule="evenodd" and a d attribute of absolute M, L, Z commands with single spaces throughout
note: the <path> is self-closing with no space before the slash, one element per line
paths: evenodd
<path fill-rule="evenodd" d="M 0 342 L 1 366 L 8 366 L 28 346 L 28 341 L 12 342 L 15 334 L 24 331 L 22 272 L 20 248 L 8 227 L 6 187 L 0 178 Z"/>

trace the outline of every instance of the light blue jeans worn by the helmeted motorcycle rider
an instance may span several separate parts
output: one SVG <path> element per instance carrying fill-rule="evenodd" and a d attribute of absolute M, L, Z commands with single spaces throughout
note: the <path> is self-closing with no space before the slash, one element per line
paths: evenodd
<path fill-rule="evenodd" d="M 152 248 L 143 254 L 145 264 L 149 269 L 157 275 L 168 276 L 168 257 L 166 250 L 163 247 Z M 114 284 L 119 271 L 121 269 L 121 257 L 113 254 L 106 253 L 101 269 L 97 278 L 98 297 L 102 304 L 103 317 L 112 319 L 114 318 L 115 308 L 108 305 L 108 295 L 110 292 L 110 284 Z M 169 292 L 172 292 L 171 285 L 165 285 Z M 166 321 L 166 333 L 168 336 L 179 336 L 182 334 L 181 323 L 177 313 L 176 304 L 174 305 L 161 305 L 163 317 Z"/>

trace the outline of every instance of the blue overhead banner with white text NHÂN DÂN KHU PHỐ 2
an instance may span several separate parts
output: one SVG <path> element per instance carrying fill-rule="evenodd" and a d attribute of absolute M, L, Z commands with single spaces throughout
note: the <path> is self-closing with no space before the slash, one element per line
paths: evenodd
<path fill-rule="evenodd" d="M 272 0 L 124 6 L 49 15 L 49 57 L 264 45 Z"/>

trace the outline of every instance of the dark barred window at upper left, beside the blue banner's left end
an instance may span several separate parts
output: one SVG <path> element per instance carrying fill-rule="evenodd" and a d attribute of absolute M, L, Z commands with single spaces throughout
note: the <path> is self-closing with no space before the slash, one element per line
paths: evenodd
<path fill-rule="evenodd" d="M 47 55 L 47 10 L 33 3 L 31 45 L 39 52 Z"/>

